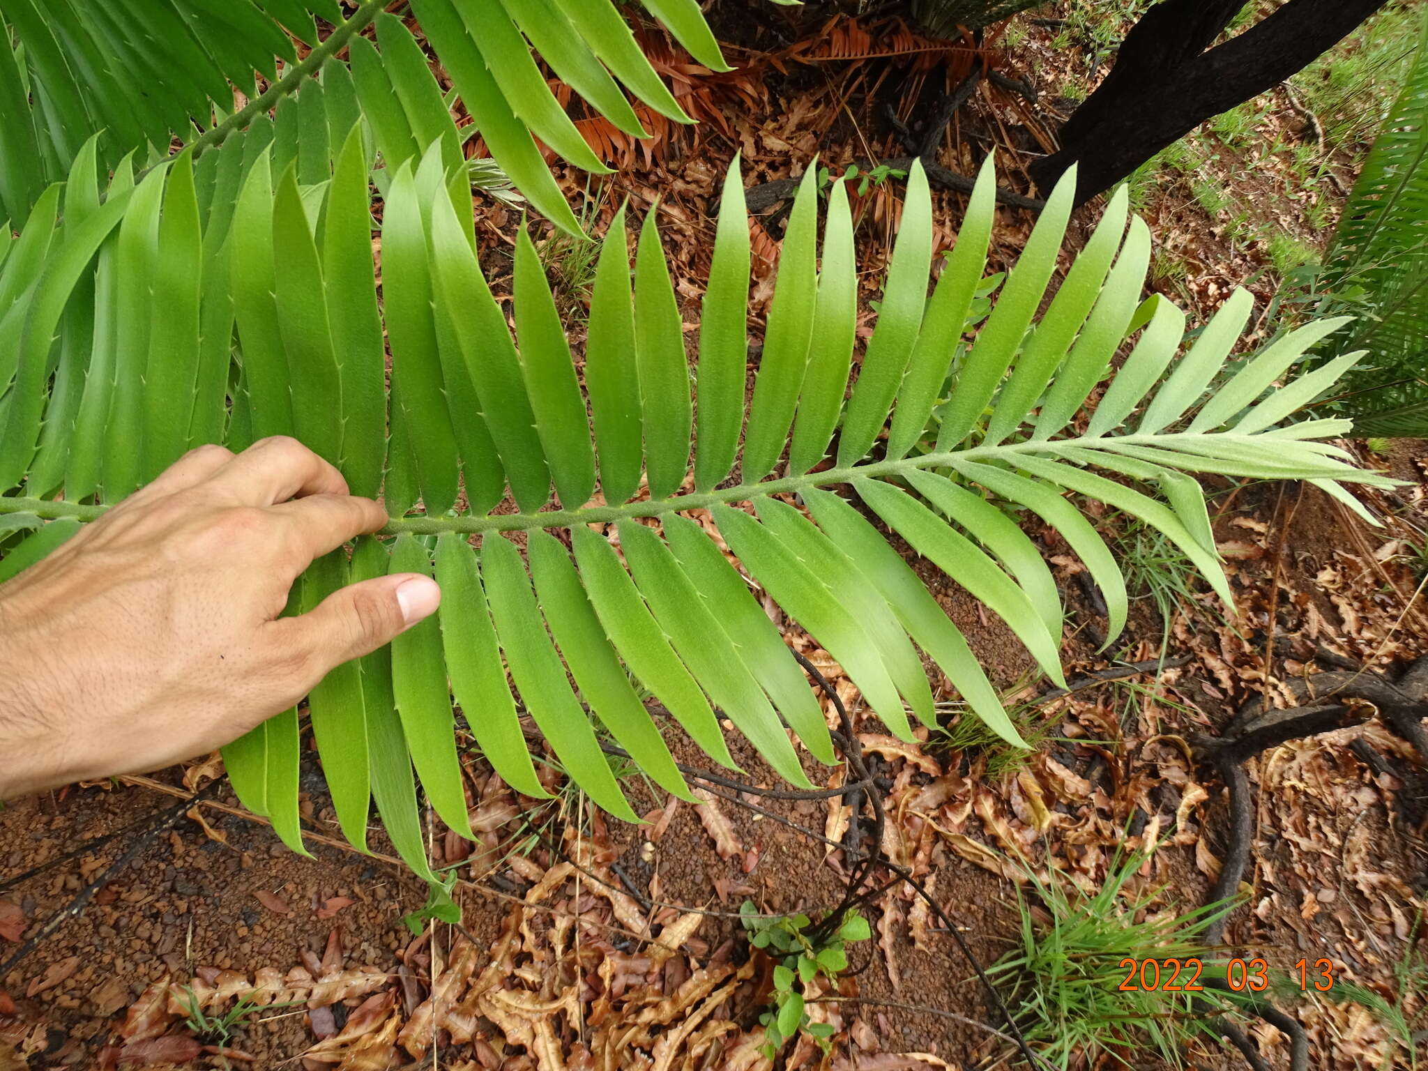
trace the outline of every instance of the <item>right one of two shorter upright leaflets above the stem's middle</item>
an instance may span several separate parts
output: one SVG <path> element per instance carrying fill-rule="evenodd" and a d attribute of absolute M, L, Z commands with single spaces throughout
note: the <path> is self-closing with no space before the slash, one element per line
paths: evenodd
<path fill-rule="evenodd" d="M 690 468 L 690 366 L 684 326 L 674 301 L 670 268 L 654 226 L 644 217 L 634 264 L 634 336 L 644 413 L 645 473 L 653 498 L 668 498 Z"/>

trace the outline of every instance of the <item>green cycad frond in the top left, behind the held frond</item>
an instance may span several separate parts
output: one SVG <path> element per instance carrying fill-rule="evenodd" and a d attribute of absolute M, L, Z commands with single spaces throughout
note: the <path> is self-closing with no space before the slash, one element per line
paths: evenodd
<path fill-rule="evenodd" d="M 270 114 L 271 129 L 250 137 L 273 141 L 277 174 L 297 160 L 301 186 L 327 180 L 358 114 L 393 173 L 437 140 L 450 170 L 461 139 L 426 54 L 387 7 L 363 0 L 343 17 L 336 0 L 4 0 L 0 207 L 23 224 L 93 134 L 104 174 L 129 153 L 146 164 L 176 140 L 191 147 L 206 207 L 221 170 L 204 161 L 207 150 L 267 126 Z M 700 63 L 727 70 L 694 0 L 644 7 Z M 627 134 L 644 130 L 620 83 L 654 111 L 688 121 L 611 0 L 413 0 L 411 9 L 497 164 L 561 227 L 578 230 L 531 134 L 580 167 L 608 169 L 557 103 L 531 47 Z M 314 17 L 330 24 L 326 33 Z M 363 36 L 371 26 L 376 44 Z M 307 46 L 301 59 L 293 39 Z M 247 101 L 237 109 L 234 90 Z"/>

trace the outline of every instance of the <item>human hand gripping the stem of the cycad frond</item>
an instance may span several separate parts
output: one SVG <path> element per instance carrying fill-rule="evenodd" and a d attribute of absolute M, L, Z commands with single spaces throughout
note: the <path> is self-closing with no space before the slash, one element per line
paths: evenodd
<path fill-rule="evenodd" d="M 204 446 L 0 584 L 0 800 L 211 751 L 428 617 L 416 573 L 280 617 L 316 557 L 386 523 L 293 438 Z"/>

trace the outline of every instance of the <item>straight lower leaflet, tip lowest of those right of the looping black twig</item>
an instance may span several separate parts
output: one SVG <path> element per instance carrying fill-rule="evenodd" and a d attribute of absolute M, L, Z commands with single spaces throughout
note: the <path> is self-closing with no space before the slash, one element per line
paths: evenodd
<path fill-rule="evenodd" d="M 805 491 L 804 501 L 818 527 L 877 585 L 902 627 L 941 667 L 972 711 L 1008 743 L 1027 747 L 961 631 L 887 538 L 831 491 Z"/>

